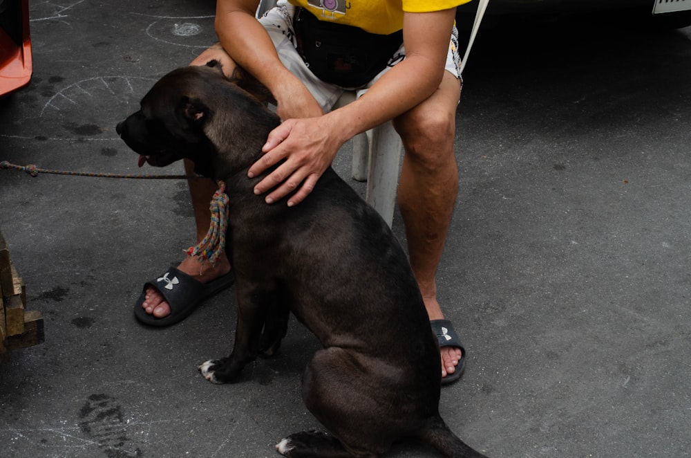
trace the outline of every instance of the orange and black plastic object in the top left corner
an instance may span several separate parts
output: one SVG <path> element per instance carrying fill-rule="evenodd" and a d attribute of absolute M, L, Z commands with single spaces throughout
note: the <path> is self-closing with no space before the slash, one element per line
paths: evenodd
<path fill-rule="evenodd" d="M 17 0 L 19 1 L 19 0 Z M 11 3 L 4 0 L 1 3 Z M 14 10 L 13 10 L 14 7 Z M 0 28 L 0 96 L 7 95 L 29 84 L 33 63 L 31 59 L 31 38 L 29 35 L 29 1 L 21 0 L 0 12 L 12 21 L 15 32 Z M 12 36 L 14 35 L 14 36 Z"/>

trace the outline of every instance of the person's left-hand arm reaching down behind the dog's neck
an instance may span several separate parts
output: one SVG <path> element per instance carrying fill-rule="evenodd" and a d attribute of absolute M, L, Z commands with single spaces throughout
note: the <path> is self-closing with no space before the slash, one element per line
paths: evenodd
<path fill-rule="evenodd" d="M 305 85 L 281 64 L 271 38 L 256 20 L 258 4 L 258 0 L 216 2 L 216 35 L 221 46 L 236 64 L 271 91 L 278 116 L 320 116 L 321 107 Z"/>

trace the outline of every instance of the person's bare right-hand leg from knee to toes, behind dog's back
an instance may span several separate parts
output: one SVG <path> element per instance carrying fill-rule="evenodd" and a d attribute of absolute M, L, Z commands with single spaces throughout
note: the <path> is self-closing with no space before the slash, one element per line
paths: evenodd
<path fill-rule="evenodd" d="M 444 72 L 439 89 L 394 123 L 406 152 L 398 203 L 406 226 L 410 266 L 430 320 L 444 318 L 435 275 L 458 191 L 453 140 L 459 97 L 460 80 Z M 460 349 L 442 348 L 442 376 L 453 374 L 460 358 Z"/>

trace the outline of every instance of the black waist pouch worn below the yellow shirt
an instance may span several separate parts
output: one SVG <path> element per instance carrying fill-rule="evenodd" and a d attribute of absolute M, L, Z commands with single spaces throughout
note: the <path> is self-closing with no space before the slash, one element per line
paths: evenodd
<path fill-rule="evenodd" d="M 298 8 L 293 19 L 298 52 L 310 71 L 325 82 L 360 87 L 384 70 L 403 43 L 403 31 L 391 35 L 320 21 Z"/>

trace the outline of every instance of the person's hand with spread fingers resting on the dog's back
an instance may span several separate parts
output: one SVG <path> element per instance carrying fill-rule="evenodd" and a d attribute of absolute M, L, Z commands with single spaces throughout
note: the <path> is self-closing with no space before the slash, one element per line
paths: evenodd
<path fill-rule="evenodd" d="M 329 125 L 328 116 L 289 119 L 276 127 L 262 148 L 264 155 L 249 167 L 248 176 L 257 176 L 285 161 L 257 183 L 254 194 L 272 190 L 265 201 L 274 203 L 297 190 L 287 205 L 292 207 L 303 201 L 343 145 L 336 134 Z"/>

